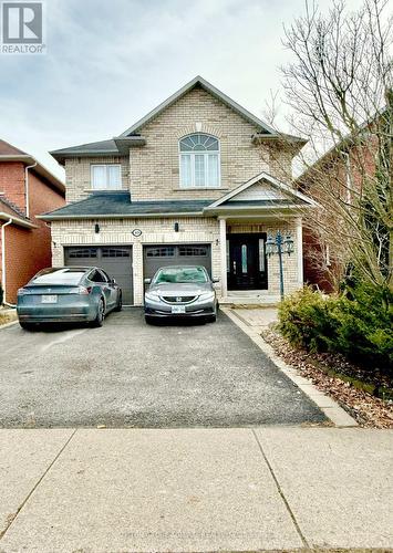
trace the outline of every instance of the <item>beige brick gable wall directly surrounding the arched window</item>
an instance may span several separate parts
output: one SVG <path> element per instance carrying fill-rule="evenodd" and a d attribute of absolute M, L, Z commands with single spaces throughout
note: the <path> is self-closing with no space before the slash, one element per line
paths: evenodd
<path fill-rule="evenodd" d="M 156 119 L 141 128 L 146 146 L 131 148 L 131 190 L 134 200 L 217 199 L 261 173 L 269 171 L 262 146 L 251 136 L 257 128 L 203 88 L 194 88 Z M 220 143 L 221 190 L 179 187 L 178 142 L 201 132 Z"/>

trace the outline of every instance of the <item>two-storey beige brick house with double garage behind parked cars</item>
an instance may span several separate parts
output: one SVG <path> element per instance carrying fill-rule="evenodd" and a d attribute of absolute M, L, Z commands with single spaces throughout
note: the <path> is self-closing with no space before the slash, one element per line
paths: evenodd
<path fill-rule="evenodd" d="M 101 265 L 130 304 L 142 304 L 144 278 L 158 267 L 190 263 L 219 279 L 221 302 L 276 302 L 279 264 L 266 255 L 267 234 L 291 233 L 285 290 L 302 286 L 301 212 L 313 205 L 281 180 L 304 142 L 281 144 L 196 77 L 121 136 L 52 152 L 65 167 L 68 202 L 42 216 L 53 264 Z"/>

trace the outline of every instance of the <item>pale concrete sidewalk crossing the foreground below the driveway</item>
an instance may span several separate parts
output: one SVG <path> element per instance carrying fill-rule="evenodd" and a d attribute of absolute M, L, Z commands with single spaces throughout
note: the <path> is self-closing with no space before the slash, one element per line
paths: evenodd
<path fill-rule="evenodd" d="M 0 430 L 0 552 L 393 547 L 393 432 Z"/>

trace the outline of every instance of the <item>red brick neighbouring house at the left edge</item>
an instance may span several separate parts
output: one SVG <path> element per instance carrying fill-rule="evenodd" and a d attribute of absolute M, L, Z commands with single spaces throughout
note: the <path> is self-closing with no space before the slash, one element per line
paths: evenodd
<path fill-rule="evenodd" d="M 51 233 L 37 215 L 64 205 L 64 185 L 32 156 L 0 140 L 0 279 L 3 301 L 51 267 Z"/>

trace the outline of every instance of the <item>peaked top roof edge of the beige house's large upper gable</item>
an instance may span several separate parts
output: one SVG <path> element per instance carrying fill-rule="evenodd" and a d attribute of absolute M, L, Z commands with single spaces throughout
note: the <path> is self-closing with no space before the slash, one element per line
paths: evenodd
<path fill-rule="evenodd" d="M 162 104 L 152 109 L 147 115 L 142 117 L 142 119 L 134 123 L 134 125 L 124 131 L 124 133 L 121 136 L 130 136 L 132 134 L 136 134 L 142 126 L 146 125 L 146 123 L 157 117 L 162 112 L 164 112 L 164 109 L 173 105 L 182 96 L 185 96 L 189 91 L 192 91 L 196 86 L 200 86 L 206 92 L 210 93 L 213 96 L 220 100 L 224 104 L 234 109 L 234 112 L 238 113 L 241 117 L 244 117 L 249 123 L 255 125 L 258 128 L 258 131 L 261 132 L 262 134 L 277 136 L 277 132 L 272 127 L 270 127 L 267 123 L 252 115 L 245 107 L 241 107 L 241 105 L 239 105 L 237 102 L 231 100 L 229 96 L 224 94 L 224 92 L 216 88 L 213 84 L 208 83 L 205 79 L 203 79 L 199 75 L 189 81 L 189 83 L 182 86 L 182 88 L 175 92 L 175 94 L 172 94 L 172 96 L 169 96 Z"/>

